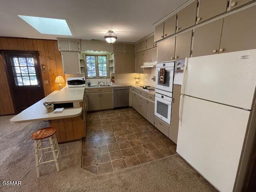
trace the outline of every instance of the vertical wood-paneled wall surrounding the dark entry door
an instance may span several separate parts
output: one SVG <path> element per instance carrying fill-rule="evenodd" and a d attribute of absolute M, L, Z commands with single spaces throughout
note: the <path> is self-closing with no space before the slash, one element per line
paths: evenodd
<path fill-rule="evenodd" d="M 0 37 L 0 50 L 30 50 L 39 52 L 42 84 L 44 86 L 45 96 L 54 90 L 59 89 L 58 83 L 54 83 L 56 76 L 61 75 L 65 79 L 57 40 Z M 43 72 L 42 65 L 45 65 L 45 72 Z M 4 58 L 0 55 L 0 115 L 14 114 L 14 107 L 6 74 Z M 45 81 L 48 81 L 48 84 L 44 83 Z M 63 87 L 64 86 L 66 85 L 63 84 Z"/>

